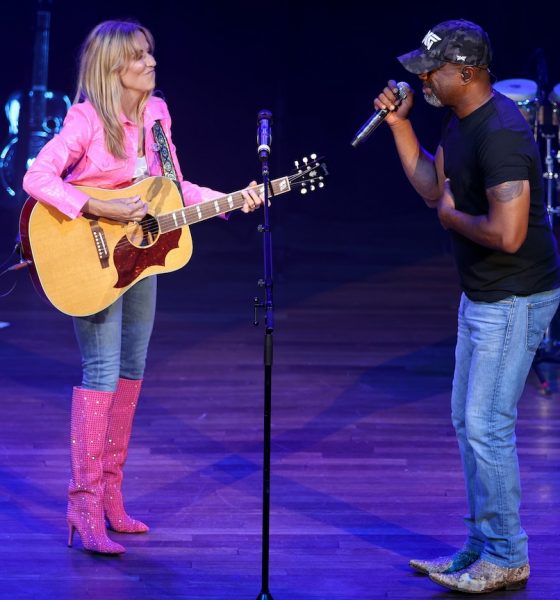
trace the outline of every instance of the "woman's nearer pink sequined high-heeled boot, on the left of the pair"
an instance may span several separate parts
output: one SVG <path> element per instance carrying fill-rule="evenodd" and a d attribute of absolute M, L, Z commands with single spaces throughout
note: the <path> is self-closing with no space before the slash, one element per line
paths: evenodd
<path fill-rule="evenodd" d="M 68 487 L 68 545 L 77 530 L 86 550 L 122 554 L 124 548 L 107 536 L 103 518 L 103 449 L 113 392 L 75 387 L 72 394 Z"/>

